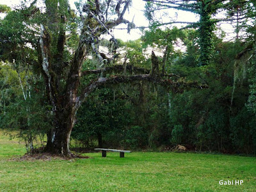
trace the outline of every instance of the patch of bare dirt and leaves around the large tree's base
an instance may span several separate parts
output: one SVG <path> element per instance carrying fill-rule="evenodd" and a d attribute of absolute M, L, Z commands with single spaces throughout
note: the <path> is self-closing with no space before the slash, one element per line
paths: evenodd
<path fill-rule="evenodd" d="M 52 161 L 52 160 L 68 160 L 72 161 L 73 159 L 88 159 L 88 156 L 81 156 L 79 154 L 72 154 L 72 157 L 64 157 L 61 155 L 50 154 L 50 153 L 40 153 L 40 154 L 25 154 L 22 157 L 15 157 L 9 159 L 9 161 Z"/>

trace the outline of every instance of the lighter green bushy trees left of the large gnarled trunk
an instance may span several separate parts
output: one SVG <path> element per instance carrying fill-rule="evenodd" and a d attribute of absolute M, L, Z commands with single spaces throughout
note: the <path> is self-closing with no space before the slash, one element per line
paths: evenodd
<path fill-rule="evenodd" d="M 51 113 L 47 110 L 44 98 L 44 79 L 31 71 L 22 70 L 13 63 L 0 64 L 0 127 L 6 131 L 15 131 L 26 143 L 29 153 L 35 152 L 35 141 L 40 138 L 43 143 L 44 134 L 51 127 Z M 49 108 L 49 106 L 48 106 Z"/>

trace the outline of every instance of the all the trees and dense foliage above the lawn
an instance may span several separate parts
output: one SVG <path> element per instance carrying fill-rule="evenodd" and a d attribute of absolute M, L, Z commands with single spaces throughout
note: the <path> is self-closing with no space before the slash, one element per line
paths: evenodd
<path fill-rule="evenodd" d="M 108 32 L 101 24 L 113 22 L 100 21 L 96 17 L 99 15 L 88 11 L 101 1 L 88 1 L 87 6 L 77 3 L 80 14 L 82 10 L 88 12 L 84 17 L 77 17 L 67 1 L 61 0 L 60 7 L 58 1 L 49 2 L 45 1 L 49 9 L 46 13 L 39 12 L 33 3 L 13 11 L 0 7 L 0 12 L 9 12 L 0 20 L 0 125 L 18 130 L 28 150 L 33 150 L 38 136 L 47 134 L 49 144 L 63 128 L 59 138 L 61 132 L 67 133 L 61 139 L 66 142 L 68 155 L 74 126 L 72 139 L 85 147 L 158 148 L 181 144 L 192 150 L 256 153 L 254 1 L 188 1 L 180 8 L 200 15 L 192 29 L 161 28 L 154 16 L 156 7 L 172 7 L 175 3 L 148 1 L 145 15 L 150 28 L 140 39 L 128 42 L 99 38 L 100 33 Z M 124 10 L 131 3 L 102 2 L 104 6 L 96 7 L 97 14 L 102 8 L 107 18 L 108 4 L 112 16 L 117 14 L 119 19 L 124 15 L 118 3 L 124 3 Z M 58 7 L 58 12 L 50 12 L 52 7 Z M 214 34 L 220 20 L 213 16 L 218 10 L 227 13 L 226 20 L 236 23 L 234 40 L 225 41 L 224 32 Z M 55 22 L 50 13 L 55 14 Z M 117 21 L 113 25 L 118 25 Z M 125 19 L 123 22 L 133 25 Z M 47 27 L 39 38 L 41 23 Z M 78 33 L 83 33 L 80 38 Z M 42 49 L 39 39 L 45 43 Z M 100 52 L 100 46 L 108 52 Z M 41 65 L 47 59 L 42 57 L 49 52 L 52 65 Z M 116 66 L 121 70 L 107 71 Z M 130 81 L 130 77 L 138 77 L 138 71 L 154 83 Z M 176 86 L 196 82 L 202 87 L 164 88 L 157 84 L 161 78 Z M 82 97 L 85 102 L 79 100 Z M 61 150 L 62 141 L 57 142 L 60 146 L 52 141 L 51 148 Z"/>

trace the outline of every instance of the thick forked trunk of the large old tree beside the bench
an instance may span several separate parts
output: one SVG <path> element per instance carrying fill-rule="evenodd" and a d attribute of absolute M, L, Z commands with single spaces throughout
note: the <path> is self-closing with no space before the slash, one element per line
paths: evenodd
<path fill-rule="evenodd" d="M 68 146 L 70 143 L 70 134 L 76 122 L 76 112 L 80 106 L 77 90 L 80 84 L 81 65 L 86 46 L 80 42 L 70 67 L 65 90 L 60 91 L 58 89 L 60 76 L 54 72 L 56 67 L 52 67 L 51 63 L 53 59 L 50 54 L 49 33 L 44 26 L 41 26 L 41 28 L 40 46 L 42 49 L 42 68 L 44 70 L 45 84 L 54 116 L 52 129 L 47 134 L 45 151 L 70 157 L 71 153 Z M 57 65 L 57 63 L 53 64 L 54 66 Z"/>

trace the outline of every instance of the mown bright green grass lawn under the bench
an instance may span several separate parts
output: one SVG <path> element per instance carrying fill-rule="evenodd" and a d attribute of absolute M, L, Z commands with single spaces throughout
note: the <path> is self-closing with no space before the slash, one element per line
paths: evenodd
<path fill-rule="evenodd" d="M 0 191 L 256 191 L 256 158 L 193 153 L 84 154 L 90 159 L 10 161 L 24 144 L 0 132 Z M 243 180 L 220 186 L 219 180 Z"/>

